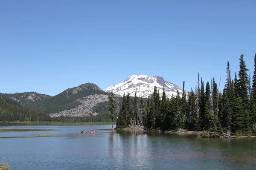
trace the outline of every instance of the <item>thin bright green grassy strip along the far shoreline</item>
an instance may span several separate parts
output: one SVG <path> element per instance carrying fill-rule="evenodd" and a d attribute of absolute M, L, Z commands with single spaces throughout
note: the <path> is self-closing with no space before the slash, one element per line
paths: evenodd
<path fill-rule="evenodd" d="M 7 123 L 7 122 L 0 122 Z M 111 125 L 112 122 L 8 122 L 10 124 L 90 124 L 90 125 Z M 116 122 L 114 122 L 116 124 Z"/>

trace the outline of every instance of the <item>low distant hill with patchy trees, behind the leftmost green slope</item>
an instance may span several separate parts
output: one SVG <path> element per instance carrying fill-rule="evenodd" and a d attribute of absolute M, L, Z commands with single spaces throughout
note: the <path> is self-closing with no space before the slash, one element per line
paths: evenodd
<path fill-rule="evenodd" d="M 51 96 L 47 94 L 39 94 L 37 92 L 24 92 L 24 93 L 15 93 L 15 94 L 3 94 L 16 102 L 20 103 L 21 105 L 30 108 L 36 103 L 49 99 Z"/>

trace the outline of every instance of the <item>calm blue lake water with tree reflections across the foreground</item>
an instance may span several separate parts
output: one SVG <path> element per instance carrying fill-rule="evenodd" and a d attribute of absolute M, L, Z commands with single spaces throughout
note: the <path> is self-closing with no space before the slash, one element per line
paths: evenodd
<path fill-rule="evenodd" d="M 3 132 L 58 137 L 0 139 L 0 161 L 13 170 L 256 170 L 256 139 L 198 139 L 194 135 L 106 130 L 112 125 L 3 125 L 58 129 Z M 79 134 L 81 130 L 88 134 Z M 91 134 L 90 130 L 96 131 Z"/>

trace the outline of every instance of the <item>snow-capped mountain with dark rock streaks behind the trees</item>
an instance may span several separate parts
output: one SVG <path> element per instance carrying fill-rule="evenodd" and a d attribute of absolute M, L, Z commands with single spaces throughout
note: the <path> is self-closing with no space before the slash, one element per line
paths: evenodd
<path fill-rule="evenodd" d="M 159 90 L 161 97 L 163 94 L 163 88 L 165 88 L 166 96 L 168 98 L 171 98 L 172 95 L 176 96 L 177 91 L 182 95 L 182 88 L 177 85 L 166 81 L 163 77 L 148 77 L 147 75 L 133 75 L 117 85 L 112 85 L 109 88 L 106 88 L 104 91 L 113 91 L 114 94 L 119 95 L 123 95 L 124 93 L 126 95 L 127 92 L 129 92 L 131 96 L 135 96 L 136 92 L 138 97 L 147 98 L 153 93 L 154 86 Z"/>

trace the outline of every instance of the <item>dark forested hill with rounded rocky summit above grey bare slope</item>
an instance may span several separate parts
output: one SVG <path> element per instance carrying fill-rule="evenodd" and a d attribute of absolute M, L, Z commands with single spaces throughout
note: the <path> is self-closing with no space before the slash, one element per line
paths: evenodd
<path fill-rule="evenodd" d="M 93 94 L 105 94 L 108 93 L 102 91 L 97 85 L 93 83 L 85 83 L 78 87 L 68 88 L 56 96 L 52 96 L 49 99 L 42 100 L 30 108 L 43 111 L 44 113 L 57 113 L 59 111 L 70 110 L 81 105 L 80 102 L 76 101 L 86 96 Z"/>

